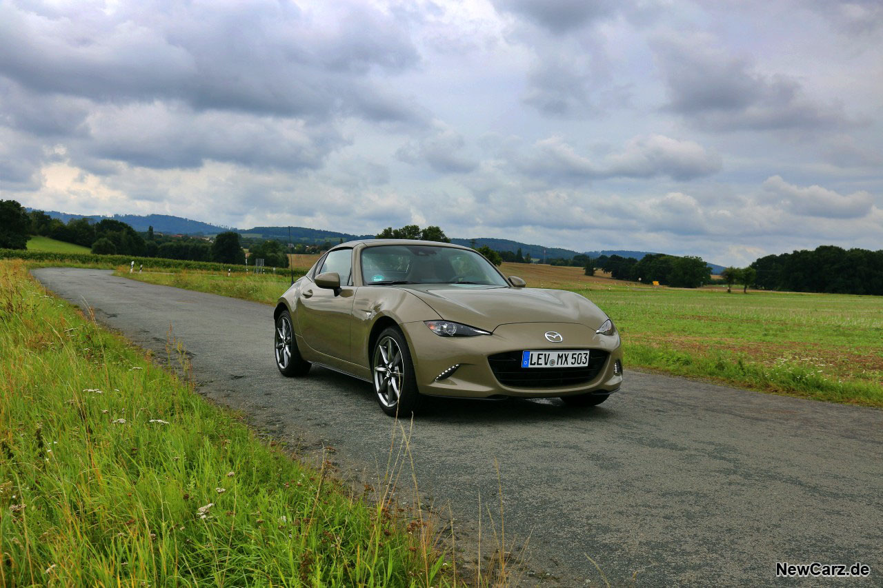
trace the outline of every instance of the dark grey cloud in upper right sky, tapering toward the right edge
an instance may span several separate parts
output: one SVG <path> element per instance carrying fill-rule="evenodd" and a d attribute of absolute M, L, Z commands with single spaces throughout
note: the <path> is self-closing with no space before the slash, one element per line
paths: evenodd
<path fill-rule="evenodd" d="M 758 72 L 707 36 L 660 36 L 652 43 L 668 88 L 667 109 L 710 131 L 842 128 L 841 104 L 806 95 L 794 78 Z"/>

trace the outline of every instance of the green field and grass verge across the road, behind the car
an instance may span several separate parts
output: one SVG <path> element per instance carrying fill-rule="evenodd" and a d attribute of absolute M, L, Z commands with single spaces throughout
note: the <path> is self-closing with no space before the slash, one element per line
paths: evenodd
<path fill-rule="evenodd" d="M 653 288 L 590 278 L 580 275 L 579 268 L 516 269 L 535 272 L 528 277 L 545 286 L 576 291 L 614 317 L 627 366 L 775 394 L 883 407 L 879 298 L 726 294 L 722 289 Z M 127 268 L 119 268 L 117 275 L 266 304 L 274 304 L 289 283 L 279 275 L 227 277 L 197 271 L 130 276 Z"/>

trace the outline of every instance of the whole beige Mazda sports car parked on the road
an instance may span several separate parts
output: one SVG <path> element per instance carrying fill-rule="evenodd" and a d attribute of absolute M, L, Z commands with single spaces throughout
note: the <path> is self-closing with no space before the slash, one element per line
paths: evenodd
<path fill-rule="evenodd" d="M 607 314 L 565 290 L 525 288 L 459 245 L 366 239 L 337 245 L 275 307 L 275 362 L 371 382 L 381 409 L 422 396 L 546 398 L 594 406 L 623 381 Z"/>

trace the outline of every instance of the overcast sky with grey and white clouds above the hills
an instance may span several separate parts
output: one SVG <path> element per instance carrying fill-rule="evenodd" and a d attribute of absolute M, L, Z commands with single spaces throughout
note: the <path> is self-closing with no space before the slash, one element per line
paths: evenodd
<path fill-rule="evenodd" d="M 0 0 L 0 198 L 743 266 L 883 247 L 879 0 Z"/>

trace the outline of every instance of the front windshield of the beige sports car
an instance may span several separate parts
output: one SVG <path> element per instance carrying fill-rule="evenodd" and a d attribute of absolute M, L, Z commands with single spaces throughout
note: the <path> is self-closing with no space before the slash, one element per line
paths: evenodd
<path fill-rule="evenodd" d="M 362 251 L 366 285 L 460 283 L 506 286 L 502 275 L 478 253 L 434 245 L 378 245 Z"/>

